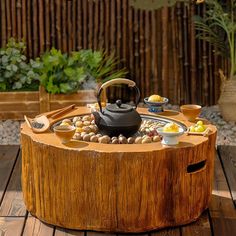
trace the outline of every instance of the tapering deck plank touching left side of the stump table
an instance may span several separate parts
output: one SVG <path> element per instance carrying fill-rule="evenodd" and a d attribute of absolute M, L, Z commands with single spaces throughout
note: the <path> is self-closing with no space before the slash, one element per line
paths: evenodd
<path fill-rule="evenodd" d="M 21 191 L 21 152 L 18 155 L 16 165 L 12 172 L 7 191 L 4 195 L 0 216 L 25 216 L 26 209 Z"/>

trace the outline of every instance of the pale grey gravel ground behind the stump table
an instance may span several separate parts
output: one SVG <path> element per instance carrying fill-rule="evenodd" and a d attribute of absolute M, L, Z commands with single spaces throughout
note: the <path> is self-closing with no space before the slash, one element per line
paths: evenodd
<path fill-rule="evenodd" d="M 179 110 L 178 106 L 167 106 Z M 218 129 L 217 145 L 236 145 L 236 124 L 226 122 L 220 115 L 218 106 L 203 107 L 201 117 L 206 118 Z M 20 124 L 22 121 L 0 120 L 0 144 L 20 143 Z"/>

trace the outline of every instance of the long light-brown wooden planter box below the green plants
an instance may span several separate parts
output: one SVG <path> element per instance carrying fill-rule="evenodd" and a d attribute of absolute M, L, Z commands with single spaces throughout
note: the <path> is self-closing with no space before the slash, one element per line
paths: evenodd
<path fill-rule="evenodd" d="M 43 87 L 39 91 L 0 92 L 0 120 L 22 120 L 24 115 L 35 115 L 70 104 L 86 105 L 96 101 L 94 90 L 81 90 L 74 94 L 49 94 Z"/>

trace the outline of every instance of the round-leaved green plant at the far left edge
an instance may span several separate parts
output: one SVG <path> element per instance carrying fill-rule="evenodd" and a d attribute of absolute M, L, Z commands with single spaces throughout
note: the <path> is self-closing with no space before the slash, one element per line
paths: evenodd
<path fill-rule="evenodd" d="M 0 91 L 38 89 L 39 76 L 27 63 L 25 48 L 12 38 L 0 49 Z"/>

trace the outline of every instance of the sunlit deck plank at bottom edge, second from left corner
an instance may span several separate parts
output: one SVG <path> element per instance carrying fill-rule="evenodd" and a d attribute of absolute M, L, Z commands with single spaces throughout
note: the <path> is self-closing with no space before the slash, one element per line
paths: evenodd
<path fill-rule="evenodd" d="M 33 216 L 26 219 L 22 236 L 53 236 L 54 227 L 43 223 Z"/>

